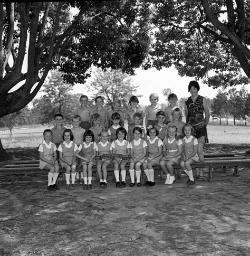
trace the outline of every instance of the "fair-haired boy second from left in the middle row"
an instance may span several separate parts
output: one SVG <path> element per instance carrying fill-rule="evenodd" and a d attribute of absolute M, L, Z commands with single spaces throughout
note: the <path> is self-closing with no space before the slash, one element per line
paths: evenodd
<path fill-rule="evenodd" d="M 80 146 L 80 144 L 83 143 L 83 135 L 84 135 L 84 132 L 85 132 L 85 129 L 80 127 L 80 123 L 81 123 L 81 117 L 78 116 L 78 115 L 74 115 L 72 117 L 72 124 L 73 124 L 73 127 L 71 128 L 71 131 L 72 131 L 72 134 L 74 136 L 74 139 L 73 139 L 73 143 L 76 144 L 76 146 Z M 82 183 L 82 180 L 83 180 L 83 173 L 81 172 L 81 179 L 79 179 L 79 172 L 76 173 L 76 180 L 75 180 L 75 183 L 78 184 L 78 183 Z"/>

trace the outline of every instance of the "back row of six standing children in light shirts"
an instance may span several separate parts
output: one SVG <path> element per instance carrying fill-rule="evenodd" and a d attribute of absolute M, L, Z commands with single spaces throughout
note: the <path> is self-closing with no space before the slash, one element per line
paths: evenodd
<path fill-rule="evenodd" d="M 133 125 L 133 115 L 134 113 L 141 113 L 142 115 L 142 120 L 143 117 L 145 117 L 145 123 L 146 127 L 149 125 L 155 125 L 157 122 L 157 117 L 156 113 L 158 111 L 164 111 L 165 113 L 165 124 L 168 124 L 172 120 L 171 118 L 171 111 L 172 109 L 177 107 L 177 96 L 174 93 L 169 94 L 168 101 L 169 101 L 169 106 L 166 107 L 165 109 L 162 109 L 161 106 L 158 105 L 159 97 L 157 93 L 151 93 L 149 96 L 149 101 L 151 105 L 147 106 L 145 113 L 138 107 L 139 104 L 139 99 L 137 96 L 132 96 L 129 99 L 129 106 L 126 111 L 122 111 L 121 105 L 122 102 L 121 100 L 115 100 L 113 102 L 112 108 L 110 111 L 105 109 L 104 106 L 104 99 L 102 96 L 98 96 L 95 98 L 95 108 L 92 109 L 88 105 L 88 96 L 82 95 L 80 97 L 80 104 L 81 107 L 76 109 L 75 114 L 81 117 L 81 123 L 80 127 L 84 128 L 85 130 L 89 130 L 90 127 L 94 126 L 93 123 L 93 118 L 92 116 L 95 113 L 98 113 L 101 116 L 100 119 L 100 126 L 104 127 L 105 129 L 108 129 L 112 125 L 112 114 L 114 112 L 119 113 L 120 115 L 120 122 L 119 125 L 121 127 L 124 127 L 124 120 L 127 120 L 128 126 Z M 182 113 L 181 113 L 182 115 Z"/>

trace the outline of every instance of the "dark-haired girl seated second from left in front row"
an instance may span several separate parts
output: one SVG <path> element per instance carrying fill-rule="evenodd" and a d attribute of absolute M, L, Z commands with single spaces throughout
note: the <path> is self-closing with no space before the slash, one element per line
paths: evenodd
<path fill-rule="evenodd" d="M 73 143 L 74 136 L 71 129 L 65 129 L 63 131 L 63 143 L 60 144 L 58 151 L 60 156 L 60 165 L 66 170 L 66 188 L 76 189 L 75 184 L 75 169 L 76 169 L 76 156 L 75 151 L 78 147 Z M 70 184 L 71 173 L 71 184 Z"/>

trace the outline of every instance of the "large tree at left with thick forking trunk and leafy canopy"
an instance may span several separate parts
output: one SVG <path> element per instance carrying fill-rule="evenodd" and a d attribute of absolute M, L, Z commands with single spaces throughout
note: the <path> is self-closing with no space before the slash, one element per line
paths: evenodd
<path fill-rule="evenodd" d="M 71 84 L 84 83 L 91 65 L 133 74 L 149 42 L 147 35 L 137 36 L 145 27 L 135 22 L 141 12 L 135 3 L 0 3 L 0 118 L 31 102 L 56 68 Z M 79 10 L 74 16 L 72 7 Z"/>

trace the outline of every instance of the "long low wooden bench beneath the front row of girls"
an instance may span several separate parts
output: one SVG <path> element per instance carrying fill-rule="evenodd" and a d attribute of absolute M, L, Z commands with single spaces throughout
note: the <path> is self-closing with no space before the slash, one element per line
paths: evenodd
<path fill-rule="evenodd" d="M 236 157 L 214 157 L 214 158 L 205 158 L 203 163 L 195 163 L 191 165 L 192 168 L 203 167 L 208 169 L 208 181 L 213 182 L 213 168 L 214 167 L 234 167 L 234 175 L 239 176 L 238 167 L 247 166 L 250 167 L 250 158 L 245 156 L 236 156 Z M 126 166 L 126 169 L 129 168 L 129 165 Z M 156 172 L 160 172 L 160 166 L 153 167 Z M 180 169 L 180 165 L 174 165 L 174 169 Z M 93 173 L 97 175 L 97 168 L 93 166 Z M 110 165 L 107 167 L 108 172 L 113 171 L 113 166 Z M 65 173 L 65 169 L 60 168 L 60 173 Z M 82 172 L 82 168 L 76 168 L 76 172 Z M 3 168 L 0 168 L 0 176 L 12 175 L 12 182 L 15 181 L 16 175 L 31 175 L 31 174 L 44 174 L 44 170 L 39 169 L 39 160 L 21 160 L 16 161 L 14 164 L 6 165 Z M 64 179 L 64 177 L 63 177 Z M 98 175 L 97 175 L 98 181 Z M 141 175 L 141 183 L 143 182 L 143 175 Z"/>

